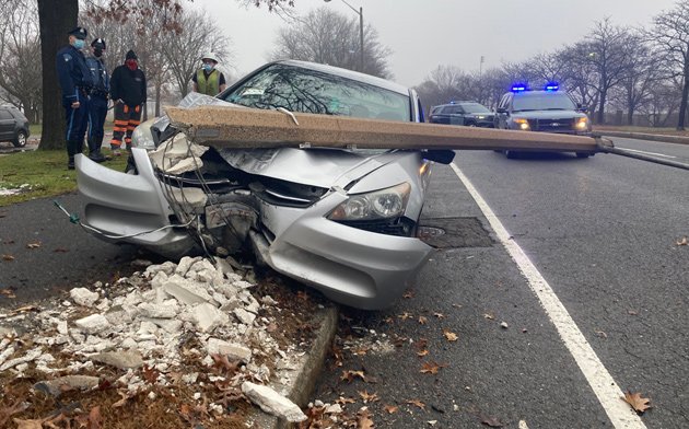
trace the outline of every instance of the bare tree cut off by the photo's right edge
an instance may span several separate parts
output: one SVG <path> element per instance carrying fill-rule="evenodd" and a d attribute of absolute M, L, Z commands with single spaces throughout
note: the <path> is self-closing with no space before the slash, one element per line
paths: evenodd
<path fill-rule="evenodd" d="M 675 9 L 655 16 L 649 35 L 655 47 L 663 53 L 673 76 L 681 80 L 681 100 L 677 129 L 685 129 L 687 98 L 689 97 L 689 3 L 679 0 Z"/>

